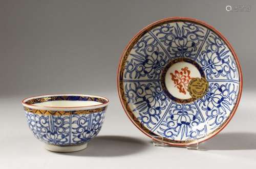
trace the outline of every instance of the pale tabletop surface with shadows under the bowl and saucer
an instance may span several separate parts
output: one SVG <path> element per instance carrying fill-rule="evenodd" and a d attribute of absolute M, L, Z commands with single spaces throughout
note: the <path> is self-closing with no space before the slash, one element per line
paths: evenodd
<path fill-rule="evenodd" d="M 254 93 L 243 93 L 227 127 L 200 145 L 205 151 L 154 147 L 126 117 L 117 92 L 101 95 L 111 101 L 103 127 L 87 149 L 73 153 L 47 151 L 34 138 L 20 104 L 24 96 L 0 98 L 0 168 L 256 168 Z"/>

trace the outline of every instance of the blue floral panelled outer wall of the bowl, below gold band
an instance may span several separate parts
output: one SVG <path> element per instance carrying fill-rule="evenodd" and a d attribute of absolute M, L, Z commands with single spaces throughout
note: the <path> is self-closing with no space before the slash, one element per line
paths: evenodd
<path fill-rule="evenodd" d="M 95 137 L 103 124 L 105 110 L 83 115 L 38 115 L 25 111 L 36 138 L 58 146 L 78 145 Z"/>

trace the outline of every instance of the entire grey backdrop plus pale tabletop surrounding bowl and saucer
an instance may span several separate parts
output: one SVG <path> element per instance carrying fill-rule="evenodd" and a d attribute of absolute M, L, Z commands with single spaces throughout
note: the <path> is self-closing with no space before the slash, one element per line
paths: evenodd
<path fill-rule="evenodd" d="M 248 4 L 250 12 L 225 10 L 226 5 Z M 1 0 L 0 167 L 255 168 L 254 7 L 255 1 L 242 0 Z M 244 90 L 237 114 L 225 130 L 202 145 L 207 151 L 153 147 L 127 119 L 118 99 L 116 71 L 123 48 L 144 26 L 173 16 L 214 26 L 229 40 L 242 65 Z M 20 100 L 51 93 L 110 98 L 102 130 L 88 149 L 51 153 L 33 138 Z"/>

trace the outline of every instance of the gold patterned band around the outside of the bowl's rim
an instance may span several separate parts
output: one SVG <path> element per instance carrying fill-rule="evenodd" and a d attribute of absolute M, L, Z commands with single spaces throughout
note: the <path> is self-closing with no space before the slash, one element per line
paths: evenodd
<path fill-rule="evenodd" d="M 32 108 L 24 107 L 25 111 L 32 112 L 33 114 L 53 115 L 53 116 L 93 114 L 95 112 L 104 111 L 105 109 L 106 109 L 106 106 L 105 107 L 96 108 L 96 109 L 89 109 L 89 110 L 55 111 L 55 110 L 40 110 L 40 109 L 32 109 Z"/>

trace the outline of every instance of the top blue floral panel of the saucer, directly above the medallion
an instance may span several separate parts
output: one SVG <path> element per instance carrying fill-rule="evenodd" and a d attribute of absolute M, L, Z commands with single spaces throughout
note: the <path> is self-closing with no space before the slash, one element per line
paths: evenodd
<path fill-rule="evenodd" d="M 195 58 L 207 33 L 205 27 L 191 22 L 167 23 L 150 31 L 172 59 Z"/>

